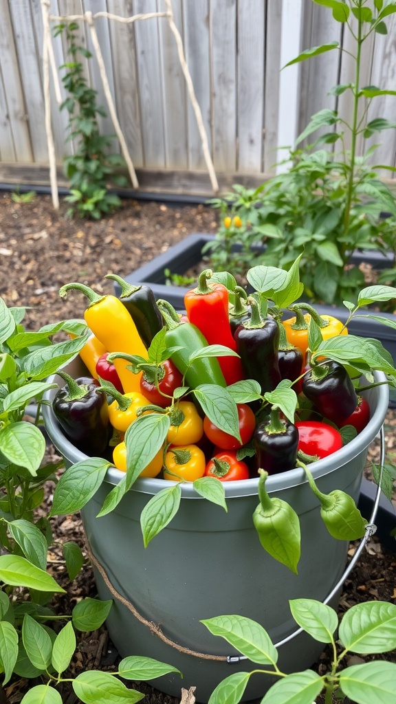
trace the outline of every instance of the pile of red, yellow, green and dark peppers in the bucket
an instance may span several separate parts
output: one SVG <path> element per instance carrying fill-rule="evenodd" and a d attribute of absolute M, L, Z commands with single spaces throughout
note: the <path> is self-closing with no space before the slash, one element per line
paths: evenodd
<path fill-rule="evenodd" d="M 248 296 L 241 287 L 233 290 L 231 303 L 228 288 L 211 270 L 187 292 L 187 315 L 156 301 L 147 286 L 130 286 L 113 274 L 106 278 L 120 285 L 119 298 L 80 283 L 60 290 L 61 296 L 80 291 L 87 298 L 89 334 L 80 351 L 87 375 L 70 379 L 63 372 L 65 385 L 53 401 L 64 434 L 85 453 L 126 472 L 128 428 L 142 415 L 163 413 L 170 418 L 166 441 L 141 476 L 228 482 L 324 458 L 369 421 L 369 405 L 347 368 L 311 358 L 310 321 L 326 340 L 347 334 L 339 320 L 321 318 L 304 303 L 288 308 L 292 317 L 280 315 L 257 291 Z M 166 359 L 159 358 L 160 346 L 168 351 Z M 211 346 L 221 346 L 222 353 L 206 356 Z M 237 438 L 204 413 L 192 391 L 202 384 L 227 389 L 244 379 L 253 379 L 260 394 L 236 404 Z M 297 394 L 292 419 L 268 401 L 281 382 Z"/>

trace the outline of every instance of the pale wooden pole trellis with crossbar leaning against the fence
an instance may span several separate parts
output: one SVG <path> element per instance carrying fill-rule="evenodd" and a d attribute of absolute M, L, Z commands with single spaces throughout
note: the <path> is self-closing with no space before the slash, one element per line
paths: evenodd
<path fill-rule="evenodd" d="M 123 132 L 121 130 L 120 123 L 118 121 L 118 117 L 117 117 L 117 113 L 116 113 L 116 108 L 114 106 L 113 98 L 111 96 L 109 80 L 107 78 L 106 67 L 104 64 L 103 56 L 101 54 L 101 48 L 100 48 L 99 39 L 97 36 L 97 31 L 96 31 L 96 28 L 94 25 L 94 20 L 99 17 L 106 17 L 109 20 L 114 20 L 116 22 L 130 24 L 130 23 L 133 23 L 137 20 L 149 20 L 152 18 L 159 18 L 159 17 L 163 17 L 163 18 L 168 19 L 169 26 L 171 28 L 171 32 L 173 33 L 173 36 L 175 37 L 175 42 L 176 42 L 176 46 L 178 49 L 178 58 L 179 58 L 180 65 L 182 68 L 182 73 L 185 77 L 185 81 L 187 84 L 187 91 L 190 96 L 192 108 L 194 110 L 194 115 L 197 120 L 197 127 L 199 130 L 199 136 L 201 137 L 201 141 L 202 141 L 202 151 L 204 153 L 204 159 L 205 159 L 205 163 L 206 163 L 206 168 L 208 169 L 208 172 L 209 172 L 209 177 L 211 180 L 212 189 L 214 191 L 214 194 L 218 194 L 218 190 L 219 190 L 218 189 L 218 181 L 216 178 L 216 172 L 214 170 L 214 164 L 211 159 L 208 138 L 207 138 L 206 130 L 204 127 L 204 121 L 202 119 L 202 113 L 199 108 L 199 103 L 198 103 L 197 98 L 195 96 L 194 85 L 192 83 L 190 70 L 188 68 L 187 61 L 185 60 L 185 54 L 184 54 L 183 46 L 182 46 L 182 38 L 180 37 L 180 32 L 178 31 L 178 28 L 175 25 L 171 0 L 166 0 L 166 7 L 167 7 L 166 12 L 137 14 L 137 15 L 132 15 L 132 17 L 127 17 L 127 18 L 119 17 L 118 15 L 112 15 L 111 13 L 106 13 L 106 12 L 98 12 L 95 15 L 93 15 L 92 12 L 90 12 L 90 11 L 87 11 L 84 15 L 65 15 L 65 16 L 56 17 L 56 16 L 49 15 L 49 0 L 41 0 L 41 4 L 42 4 L 42 18 L 43 18 L 43 26 L 44 26 L 42 65 L 43 65 L 43 84 L 44 84 L 45 127 L 46 127 L 46 134 L 47 134 L 48 154 L 49 154 L 49 173 L 50 173 L 50 182 L 51 182 L 51 195 L 52 195 L 52 202 L 54 204 L 54 208 L 57 209 L 59 207 L 59 199 L 58 199 L 58 185 L 57 185 L 57 181 L 56 181 L 56 155 L 55 155 L 55 147 L 54 147 L 54 137 L 53 137 L 52 128 L 51 128 L 51 99 L 50 99 L 50 92 L 49 92 L 49 66 L 50 65 L 51 65 L 51 70 L 52 70 L 52 74 L 54 77 L 56 100 L 58 101 L 58 103 L 61 102 L 61 91 L 60 91 L 60 87 L 59 87 L 59 83 L 58 83 L 58 76 L 57 76 L 56 70 L 55 70 L 54 50 L 53 50 L 52 43 L 51 43 L 51 31 L 50 31 L 51 20 L 55 20 L 57 22 L 64 22 L 64 21 L 73 22 L 76 20 L 83 20 L 83 21 L 87 22 L 87 26 L 89 27 L 89 31 L 90 31 L 91 38 L 92 38 L 92 46 L 94 47 L 94 51 L 95 51 L 95 54 L 97 57 L 97 63 L 99 66 L 99 73 L 100 73 L 100 77 L 101 77 L 101 82 L 104 87 L 104 94 L 106 96 L 107 105 L 109 107 L 109 113 L 111 116 L 111 120 L 113 121 L 114 129 L 116 130 L 116 134 L 117 134 L 118 140 L 120 142 L 121 151 L 123 152 L 123 157 L 125 158 L 125 162 L 128 167 L 132 186 L 134 187 L 134 189 L 138 189 L 139 182 L 136 177 L 136 172 L 135 172 L 134 165 L 132 163 L 132 158 L 130 157 L 130 153 L 128 151 L 128 146 L 125 142 L 125 137 L 124 137 Z"/>

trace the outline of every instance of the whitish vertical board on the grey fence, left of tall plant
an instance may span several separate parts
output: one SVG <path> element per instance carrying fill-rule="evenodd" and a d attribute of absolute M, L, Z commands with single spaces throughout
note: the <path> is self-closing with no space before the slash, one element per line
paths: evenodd
<path fill-rule="evenodd" d="M 266 4 L 264 153 L 261 169 L 275 173 L 278 149 L 280 34 L 283 0 Z"/>

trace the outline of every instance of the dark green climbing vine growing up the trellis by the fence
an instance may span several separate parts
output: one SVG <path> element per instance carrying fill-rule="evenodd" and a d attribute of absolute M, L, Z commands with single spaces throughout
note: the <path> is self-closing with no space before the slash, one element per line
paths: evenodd
<path fill-rule="evenodd" d="M 98 115 L 106 117 L 106 113 L 97 105 L 97 91 L 87 84 L 80 56 L 89 59 L 92 54 L 78 45 L 77 30 L 75 22 L 55 28 L 56 34 L 66 32 L 68 42 L 70 61 L 61 66 L 66 70 L 62 82 L 68 96 L 61 103 L 61 110 L 69 113 L 67 141 L 77 144 L 64 163 L 70 181 L 70 195 L 65 200 L 71 204 L 69 215 L 77 210 L 83 217 L 98 220 L 121 204 L 118 196 L 109 191 L 109 182 L 123 186 L 126 180 L 114 173 L 124 162 L 118 154 L 109 153 L 113 135 L 99 132 Z"/>

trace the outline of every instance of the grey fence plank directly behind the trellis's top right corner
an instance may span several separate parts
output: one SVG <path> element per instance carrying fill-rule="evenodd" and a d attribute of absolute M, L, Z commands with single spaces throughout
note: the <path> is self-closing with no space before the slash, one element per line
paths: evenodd
<path fill-rule="evenodd" d="M 183 36 L 182 6 L 180 0 L 172 0 L 176 27 Z M 157 10 L 163 12 L 166 5 L 157 2 Z M 149 20 L 153 22 L 155 20 Z M 165 138 L 165 163 L 173 168 L 187 166 L 187 120 L 186 83 L 178 57 L 175 37 L 168 20 L 158 20 L 161 82 L 163 86 L 163 133 Z"/>

